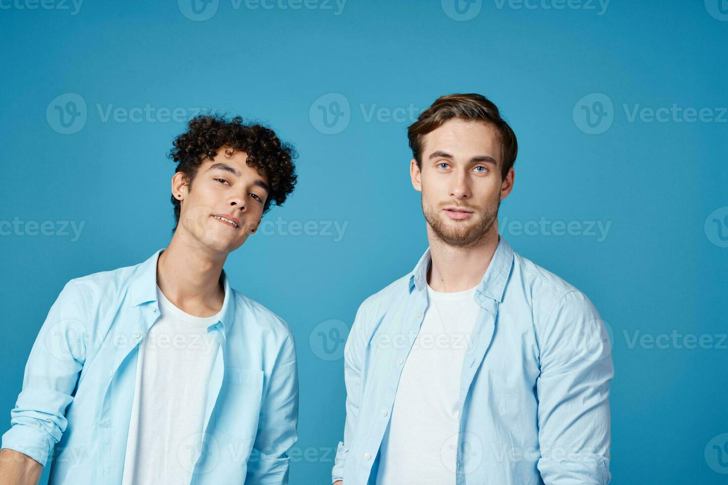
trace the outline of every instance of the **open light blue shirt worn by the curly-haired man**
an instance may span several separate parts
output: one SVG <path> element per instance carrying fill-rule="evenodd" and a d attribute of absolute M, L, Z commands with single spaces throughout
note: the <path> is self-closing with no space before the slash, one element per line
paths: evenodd
<path fill-rule="evenodd" d="M 41 327 L 2 447 L 45 465 L 55 446 L 50 484 L 122 481 L 138 343 L 159 317 L 163 250 L 68 281 Z M 207 327 L 221 352 L 208 383 L 205 433 L 192 440 L 202 453 L 191 483 L 288 484 L 298 423 L 293 335 L 232 289 L 224 270 L 221 281 L 220 319 Z"/>

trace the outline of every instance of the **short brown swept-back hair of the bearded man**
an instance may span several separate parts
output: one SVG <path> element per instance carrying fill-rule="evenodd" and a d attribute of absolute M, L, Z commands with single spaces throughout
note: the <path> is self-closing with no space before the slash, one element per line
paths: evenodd
<path fill-rule="evenodd" d="M 515 133 L 501 118 L 498 107 L 487 97 L 476 93 L 440 96 L 430 108 L 419 114 L 417 121 L 408 127 L 407 137 L 412 149 L 412 157 L 417 161 L 417 165 L 422 167 L 424 135 L 438 129 L 451 119 L 483 121 L 495 127 L 501 145 L 501 178 L 505 179 L 508 171 L 515 164 L 515 156 L 518 154 Z"/>

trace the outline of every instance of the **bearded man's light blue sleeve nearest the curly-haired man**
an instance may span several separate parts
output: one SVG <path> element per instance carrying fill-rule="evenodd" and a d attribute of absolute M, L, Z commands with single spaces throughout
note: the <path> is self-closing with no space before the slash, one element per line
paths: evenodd
<path fill-rule="evenodd" d="M 361 400 L 362 388 L 362 366 L 364 360 L 365 349 L 365 326 L 367 312 L 363 302 L 357 315 L 354 318 L 354 324 L 347 337 L 347 343 L 344 345 L 344 383 L 347 388 L 347 418 L 344 423 L 344 441 L 339 441 L 336 447 L 336 457 L 331 470 L 331 483 L 344 479 L 344 462 L 349 454 L 349 446 L 352 444 L 354 432 L 357 427 L 357 418 L 359 416 L 359 406 Z"/>

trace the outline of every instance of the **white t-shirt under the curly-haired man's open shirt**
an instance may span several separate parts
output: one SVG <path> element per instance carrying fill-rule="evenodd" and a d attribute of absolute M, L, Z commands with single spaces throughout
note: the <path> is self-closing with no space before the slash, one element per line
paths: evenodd
<path fill-rule="evenodd" d="M 123 485 L 189 484 L 205 430 L 207 385 L 220 342 L 157 286 L 159 318 L 139 343 Z M 222 310 L 221 310 L 222 311 Z"/>

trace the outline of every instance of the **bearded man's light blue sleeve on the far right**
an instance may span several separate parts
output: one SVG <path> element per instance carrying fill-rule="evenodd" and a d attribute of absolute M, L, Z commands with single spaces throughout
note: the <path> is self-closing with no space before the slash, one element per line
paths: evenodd
<path fill-rule="evenodd" d="M 592 302 L 564 294 L 540 330 L 538 469 L 546 485 L 608 484 L 612 349 Z"/>

